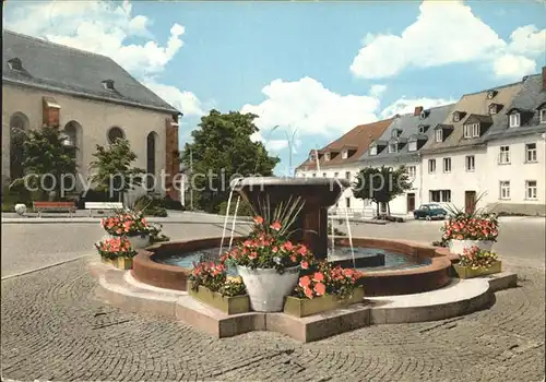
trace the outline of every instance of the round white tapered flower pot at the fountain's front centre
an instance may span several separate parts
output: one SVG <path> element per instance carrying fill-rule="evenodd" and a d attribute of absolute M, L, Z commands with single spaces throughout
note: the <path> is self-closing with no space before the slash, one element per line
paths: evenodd
<path fill-rule="evenodd" d="M 252 270 L 237 266 L 239 276 L 247 288 L 250 308 L 257 312 L 280 312 L 283 310 L 284 298 L 292 294 L 299 278 L 299 265 L 284 270 Z"/>

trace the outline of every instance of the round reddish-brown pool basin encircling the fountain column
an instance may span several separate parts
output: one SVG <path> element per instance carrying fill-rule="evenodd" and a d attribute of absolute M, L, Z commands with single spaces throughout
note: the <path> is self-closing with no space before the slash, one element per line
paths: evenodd
<path fill-rule="evenodd" d="M 244 238 L 235 238 L 235 243 Z M 161 288 L 187 290 L 192 263 L 200 259 L 215 260 L 221 238 L 158 243 L 141 250 L 134 258 L 132 275 L 138 280 Z M 225 242 L 225 241 L 224 241 Z M 430 246 L 372 238 L 353 238 L 355 258 L 364 261 L 384 255 L 384 264 L 364 267 L 360 279 L 367 296 L 408 295 L 434 290 L 450 282 L 450 256 Z M 352 263 L 349 242 L 335 242 L 336 258 Z M 352 266 L 352 265 L 348 265 Z M 357 267 L 360 267 L 357 265 Z"/>

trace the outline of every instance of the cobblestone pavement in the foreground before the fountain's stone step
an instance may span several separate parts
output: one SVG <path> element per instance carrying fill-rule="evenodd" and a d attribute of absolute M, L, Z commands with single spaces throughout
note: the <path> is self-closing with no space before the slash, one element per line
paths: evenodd
<path fill-rule="evenodd" d="M 373 325 L 301 345 L 275 333 L 215 339 L 95 299 L 80 260 L 2 282 L 1 366 L 14 380 L 542 381 L 544 273 L 488 310 Z M 514 271 L 520 272 L 515 268 Z"/>

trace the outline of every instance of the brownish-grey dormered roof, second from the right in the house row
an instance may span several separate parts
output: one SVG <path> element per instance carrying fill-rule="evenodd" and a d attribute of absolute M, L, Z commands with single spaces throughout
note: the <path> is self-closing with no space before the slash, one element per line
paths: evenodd
<path fill-rule="evenodd" d="M 450 112 L 440 124 L 451 124 L 453 130 L 444 138 L 443 142 L 428 140 L 423 146 L 422 153 L 435 153 L 452 150 L 464 150 L 472 145 L 482 145 L 485 143 L 487 135 L 495 132 L 508 118 L 506 112 L 512 103 L 513 97 L 520 92 L 522 82 L 502 85 L 495 88 L 489 88 L 478 93 L 466 94 L 453 106 L 454 111 L 464 112 L 463 118 L 459 121 L 453 121 L 453 112 Z M 496 91 L 497 94 L 492 99 L 487 97 L 490 91 Z M 497 114 L 489 116 L 489 105 L 499 104 L 502 107 Z M 464 139 L 463 126 L 471 122 L 485 121 L 488 129 L 479 138 Z"/>

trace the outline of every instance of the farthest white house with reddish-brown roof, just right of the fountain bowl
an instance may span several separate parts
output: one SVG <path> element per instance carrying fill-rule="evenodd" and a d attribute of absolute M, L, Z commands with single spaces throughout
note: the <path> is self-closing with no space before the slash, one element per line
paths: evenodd
<path fill-rule="evenodd" d="M 306 162 L 295 170 L 296 177 L 322 177 L 334 179 L 346 179 L 354 182 L 360 170 L 358 160 L 366 152 L 369 144 L 384 132 L 393 119 L 385 119 L 368 124 L 360 124 L 344 134 L 339 140 L 328 144 L 320 150 L 312 150 Z M 365 206 L 369 203 L 353 195 L 351 188 L 346 189 L 340 196 L 335 206 L 331 208 L 333 214 L 353 217 L 364 216 Z"/>

